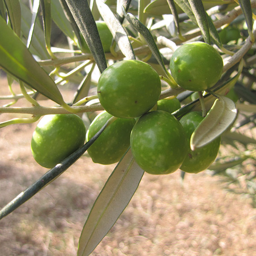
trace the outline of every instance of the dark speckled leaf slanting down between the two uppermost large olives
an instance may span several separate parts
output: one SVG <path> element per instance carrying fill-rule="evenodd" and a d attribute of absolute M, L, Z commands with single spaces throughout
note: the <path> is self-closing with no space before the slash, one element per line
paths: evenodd
<path fill-rule="evenodd" d="M 154 41 L 154 38 L 153 38 L 151 32 L 148 30 L 148 28 L 143 23 L 140 22 L 140 20 L 138 20 L 131 13 L 126 13 L 125 18 L 131 24 L 131 26 L 133 26 L 134 29 L 136 29 L 143 36 L 143 38 L 145 39 L 145 41 L 148 44 L 148 47 L 151 49 L 152 53 L 154 54 L 154 57 L 157 59 L 158 64 L 162 67 L 163 71 L 169 77 L 170 74 L 166 70 L 162 55 L 159 52 L 159 49 L 157 47 L 156 42 Z"/>

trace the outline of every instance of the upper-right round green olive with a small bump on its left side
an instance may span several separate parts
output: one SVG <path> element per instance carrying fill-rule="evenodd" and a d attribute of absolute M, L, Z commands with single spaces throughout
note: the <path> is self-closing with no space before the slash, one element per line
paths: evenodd
<path fill-rule="evenodd" d="M 202 91 L 220 79 L 223 60 L 211 45 L 192 42 L 175 50 L 170 60 L 170 70 L 180 87 Z"/>

